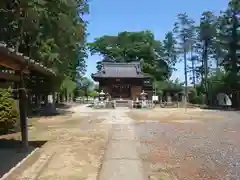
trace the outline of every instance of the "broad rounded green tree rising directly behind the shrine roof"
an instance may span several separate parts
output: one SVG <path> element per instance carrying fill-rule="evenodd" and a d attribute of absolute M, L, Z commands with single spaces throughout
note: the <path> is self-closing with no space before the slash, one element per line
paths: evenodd
<path fill-rule="evenodd" d="M 103 56 L 102 61 L 140 61 L 143 72 L 156 80 L 164 80 L 171 75 L 171 68 L 164 59 L 164 47 L 150 31 L 120 32 L 117 36 L 103 36 L 89 43 L 89 49 L 92 54 Z M 98 63 L 98 68 L 102 61 Z"/>

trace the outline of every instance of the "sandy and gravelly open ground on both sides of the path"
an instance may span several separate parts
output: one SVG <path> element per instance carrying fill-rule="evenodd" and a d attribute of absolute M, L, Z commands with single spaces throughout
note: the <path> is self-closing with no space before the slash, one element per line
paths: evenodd
<path fill-rule="evenodd" d="M 240 179 L 240 113 L 124 110 L 117 121 L 117 110 L 74 111 L 31 122 L 30 140 L 47 143 L 14 179 L 98 179 L 109 138 L 107 123 L 117 126 L 129 117 L 135 120 L 138 152 L 149 180 Z"/>

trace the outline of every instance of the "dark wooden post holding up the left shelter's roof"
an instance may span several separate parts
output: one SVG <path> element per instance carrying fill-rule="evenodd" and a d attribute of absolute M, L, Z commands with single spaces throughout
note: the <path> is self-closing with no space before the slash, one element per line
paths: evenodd
<path fill-rule="evenodd" d="M 20 110 L 22 144 L 24 148 L 28 148 L 27 93 L 26 93 L 25 84 L 24 84 L 23 71 L 20 71 L 19 75 L 20 75 L 19 110 Z"/>

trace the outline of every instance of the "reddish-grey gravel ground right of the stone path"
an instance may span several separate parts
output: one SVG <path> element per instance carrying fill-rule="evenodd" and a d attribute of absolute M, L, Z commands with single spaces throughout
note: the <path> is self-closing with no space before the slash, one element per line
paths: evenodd
<path fill-rule="evenodd" d="M 149 179 L 240 179 L 240 114 L 211 113 L 224 120 L 136 124 Z"/>

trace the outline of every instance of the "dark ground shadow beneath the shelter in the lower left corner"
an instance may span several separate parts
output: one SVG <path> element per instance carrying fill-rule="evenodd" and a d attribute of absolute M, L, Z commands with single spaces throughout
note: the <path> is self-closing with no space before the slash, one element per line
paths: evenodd
<path fill-rule="evenodd" d="M 36 148 L 43 146 L 46 141 L 30 141 L 29 149 L 23 150 L 22 143 L 14 139 L 0 139 L 0 178 L 26 158 Z"/>

